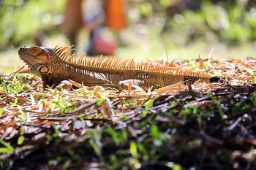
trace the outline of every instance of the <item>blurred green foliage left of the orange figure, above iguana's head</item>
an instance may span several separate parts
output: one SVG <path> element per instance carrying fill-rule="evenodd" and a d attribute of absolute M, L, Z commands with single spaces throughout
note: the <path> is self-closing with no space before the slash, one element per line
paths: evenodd
<path fill-rule="evenodd" d="M 1 1 L 0 50 L 9 45 L 29 44 L 44 31 L 56 33 L 63 21 L 65 1 Z"/>

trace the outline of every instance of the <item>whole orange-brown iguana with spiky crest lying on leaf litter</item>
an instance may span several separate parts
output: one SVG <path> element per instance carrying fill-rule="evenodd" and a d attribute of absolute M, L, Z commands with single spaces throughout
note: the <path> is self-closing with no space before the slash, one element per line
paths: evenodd
<path fill-rule="evenodd" d="M 83 82 L 86 86 L 99 85 L 119 90 L 127 88 L 130 81 L 133 88 L 146 90 L 178 82 L 192 84 L 197 80 L 206 83 L 222 80 L 218 76 L 189 69 L 170 68 L 158 62 L 135 63 L 134 59 L 113 57 L 98 57 L 89 61 L 83 58 L 84 54 L 76 60 L 74 56 L 77 54 L 69 57 L 72 47 L 20 47 L 18 55 L 35 74 L 42 77 L 43 88 L 46 88 L 46 85 L 56 88 L 65 80 Z"/>

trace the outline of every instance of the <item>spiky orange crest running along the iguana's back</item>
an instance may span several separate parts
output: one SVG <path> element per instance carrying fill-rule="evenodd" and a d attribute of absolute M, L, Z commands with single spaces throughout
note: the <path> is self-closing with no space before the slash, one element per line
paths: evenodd
<path fill-rule="evenodd" d="M 182 67 L 173 68 L 168 66 L 163 66 L 161 63 L 146 61 L 143 63 L 143 60 L 140 63 L 135 63 L 134 58 L 124 59 L 124 58 L 115 58 L 115 57 L 103 57 L 102 55 L 94 58 L 93 61 L 84 58 L 85 54 L 80 55 L 80 58 L 74 59 L 78 53 L 74 53 L 72 56 L 69 56 L 70 51 L 74 50 L 74 45 L 67 47 L 58 47 L 58 45 L 53 49 L 54 52 L 59 56 L 59 58 L 64 62 L 72 66 L 81 66 L 84 69 L 92 68 L 102 68 L 102 69 L 118 69 L 118 70 L 137 70 L 141 72 L 156 72 L 162 74 L 176 74 L 181 76 L 193 76 L 193 77 L 211 77 L 209 74 L 202 72 L 193 72 L 190 69 L 182 69 Z"/>

